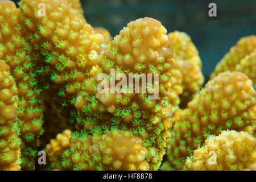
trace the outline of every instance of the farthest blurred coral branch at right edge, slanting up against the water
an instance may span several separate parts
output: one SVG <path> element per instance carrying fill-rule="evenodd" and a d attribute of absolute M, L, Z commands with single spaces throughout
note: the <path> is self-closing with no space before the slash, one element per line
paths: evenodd
<path fill-rule="evenodd" d="M 241 60 L 249 55 L 256 48 L 256 36 L 251 35 L 241 38 L 236 46 L 230 48 L 230 51 L 217 64 L 211 78 L 215 77 L 220 72 L 235 71 L 235 68 L 240 64 Z"/>

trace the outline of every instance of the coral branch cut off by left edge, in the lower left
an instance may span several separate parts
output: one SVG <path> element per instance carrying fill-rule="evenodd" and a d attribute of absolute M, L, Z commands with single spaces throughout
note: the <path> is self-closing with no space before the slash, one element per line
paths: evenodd
<path fill-rule="evenodd" d="M 0 56 L 0 171 L 20 169 L 17 93 L 10 67 L 3 63 Z"/>

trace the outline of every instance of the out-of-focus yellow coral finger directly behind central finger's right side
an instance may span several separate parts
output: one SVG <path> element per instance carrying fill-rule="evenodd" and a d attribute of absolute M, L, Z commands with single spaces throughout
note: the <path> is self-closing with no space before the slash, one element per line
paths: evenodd
<path fill-rule="evenodd" d="M 175 31 L 168 36 L 172 42 L 171 48 L 180 62 L 179 70 L 182 74 L 183 87 L 183 93 L 180 95 L 180 107 L 185 107 L 204 83 L 201 59 L 191 38 L 185 32 Z"/>

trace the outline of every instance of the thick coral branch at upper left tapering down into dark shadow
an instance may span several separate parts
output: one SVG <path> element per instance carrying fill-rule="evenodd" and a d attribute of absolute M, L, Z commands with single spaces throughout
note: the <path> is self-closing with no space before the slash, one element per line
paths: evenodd
<path fill-rule="evenodd" d="M 67 115 L 75 105 L 76 95 L 90 84 L 91 69 L 107 46 L 104 36 L 94 32 L 67 1 L 43 1 L 45 17 L 38 17 L 36 5 L 40 2 L 22 1 L 20 9 L 24 24 L 34 35 L 35 47 L 45 57 L 37 71 L 44 78 L 42 87 L 48 93 L 44 97 Z"/>

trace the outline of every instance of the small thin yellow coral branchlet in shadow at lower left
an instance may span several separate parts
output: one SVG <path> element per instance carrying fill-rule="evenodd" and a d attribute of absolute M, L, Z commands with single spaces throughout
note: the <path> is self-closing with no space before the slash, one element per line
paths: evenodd
<path fill-rule="evenodd" d="M 69 147 L 69 139 L 71 138 L 71 130 L 64 130 L 63 133 L 57 134 L 55 139 L 46 145 L 47 169 L 59 169 L 61 167 L 61 154 Z"/>

